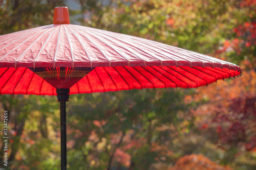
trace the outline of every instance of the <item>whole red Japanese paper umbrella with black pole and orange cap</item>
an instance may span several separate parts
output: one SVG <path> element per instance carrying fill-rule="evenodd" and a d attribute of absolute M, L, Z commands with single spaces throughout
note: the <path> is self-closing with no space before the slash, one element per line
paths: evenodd
<path fill-rule="evenodd" d="M 239 76 L 239 66 L 143 38 L 69 24 L 56 7 L 51 25 L 0 36 L 0 94 L 57 95 L 61 169 L 66 169 L 69 94 L 142 88 L 197 88 Z"/>

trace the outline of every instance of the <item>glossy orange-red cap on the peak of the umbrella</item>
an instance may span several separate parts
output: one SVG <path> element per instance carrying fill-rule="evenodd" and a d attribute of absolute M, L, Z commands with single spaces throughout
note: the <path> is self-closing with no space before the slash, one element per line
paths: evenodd
<path fill-rule="evenodd" d="M 53 24 L 69 24 L 68 7 L 55 7 Z"/>

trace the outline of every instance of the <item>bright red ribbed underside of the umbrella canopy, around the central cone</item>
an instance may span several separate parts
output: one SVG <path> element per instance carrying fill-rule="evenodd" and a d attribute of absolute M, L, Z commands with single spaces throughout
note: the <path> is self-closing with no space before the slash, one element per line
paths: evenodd
<path fill-rule="evenodd" d="M 118 91 L 142 88 L 208 85 L 220 79 L 240 75 L 238 70 L 212 67 L 147 66 L 97 67 L 70 88 L 70 94 Z M 56 95 L 56 89 L 31 70 L 0 68 L 1 94 Z"/>

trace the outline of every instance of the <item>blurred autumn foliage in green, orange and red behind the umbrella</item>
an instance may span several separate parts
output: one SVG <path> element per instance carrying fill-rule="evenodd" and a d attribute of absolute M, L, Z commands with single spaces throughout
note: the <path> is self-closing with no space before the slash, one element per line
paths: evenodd
<path fill-rule="evenodd" d="M 72 24 L 185 48 L 242 69 L 236 79 L 198 89 L 71 95 L 67 169 L 255 170 L 256 1 L 3 0 L 0 35 L 52 24 L 56 6 L 69 8 Z M 1 160 L 4 110 L 9 162 L 0 167 L 59 169 L 56 96 L 0 97 Z"/>

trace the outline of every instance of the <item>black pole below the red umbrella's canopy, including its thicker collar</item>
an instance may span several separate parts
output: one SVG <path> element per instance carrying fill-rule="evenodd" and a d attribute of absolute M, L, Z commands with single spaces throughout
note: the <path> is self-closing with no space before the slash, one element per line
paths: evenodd
<path fill-rule="evenodd" d="M 69 88 L 56 89 L 60 102 L 61 170 L 67 170 L 66 101 L 69 99 L 69 91 Z"/>

